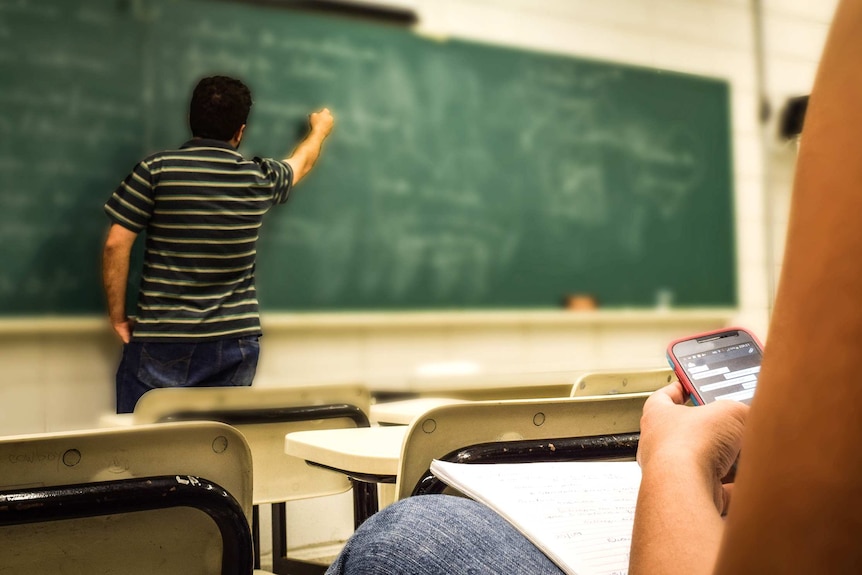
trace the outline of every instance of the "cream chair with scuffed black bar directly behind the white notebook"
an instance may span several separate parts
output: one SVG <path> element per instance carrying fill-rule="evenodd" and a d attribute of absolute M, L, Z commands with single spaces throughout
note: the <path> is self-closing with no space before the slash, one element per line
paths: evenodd
<path fill-rule="evenodd" d="M 431 409 L 405 435 L 396 499 L 421 493 L 432 477 L 431 461 L 451 459 L 464 448 L 470 448 L 466 456 L 452 460 L 523 461 L 525 453 L 539 451 L 542 460 L 561 459 L 564 453 L 569 459 L 633 458 L 649 395 L 483 401 Z M 517 442 L 518 449 L 508 442 Z M 501 443 L 508 445 L 498 448 Z"/>

